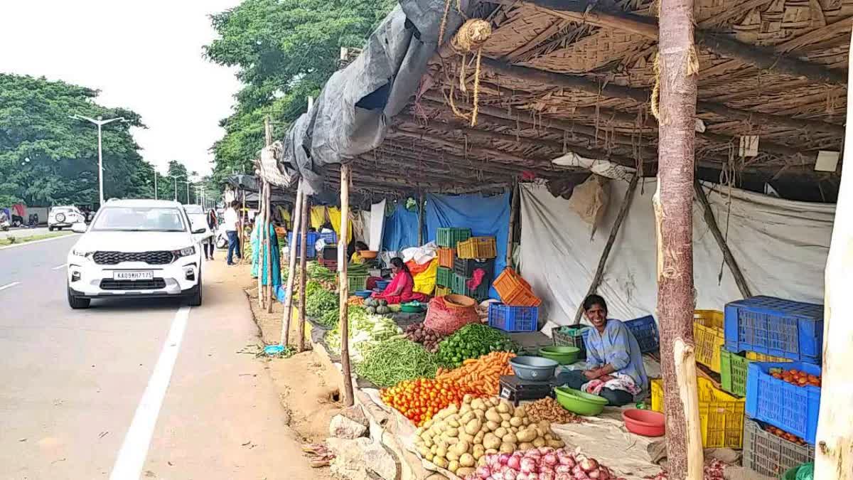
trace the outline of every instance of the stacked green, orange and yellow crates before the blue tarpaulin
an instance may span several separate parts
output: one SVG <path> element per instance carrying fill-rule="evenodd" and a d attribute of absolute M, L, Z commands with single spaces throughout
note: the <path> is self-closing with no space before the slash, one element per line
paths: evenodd
<path fill-rule="evenodd" d="M 495 237 L 472 237 L 469 228 L 439 228 L 437 237 L 441 248 L 438 249 L 436 295 L 455 293 L 477 301 L 488 298 L 495 274 Z M 483 270 L 485 275 L 479 285 L 471 289 L 468 285 L 477 270 Z"/>

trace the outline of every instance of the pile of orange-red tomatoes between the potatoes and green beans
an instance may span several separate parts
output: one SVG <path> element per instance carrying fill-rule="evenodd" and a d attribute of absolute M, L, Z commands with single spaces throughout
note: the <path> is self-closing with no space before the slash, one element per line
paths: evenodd
<path fill-rule="evenodd" d="M 467 394 L 478 395 L 473 389 L 468 389 L 454 380 L 435 380 L 433 378 L 418 378 L 397 383 L 389 389 L 381 389 L 380 398 L 386 405 L 394 407 L 399 413 L 412 421 L 416 426 L 432 419 L 451 403 L 456 407 L 461 405 Z"/>

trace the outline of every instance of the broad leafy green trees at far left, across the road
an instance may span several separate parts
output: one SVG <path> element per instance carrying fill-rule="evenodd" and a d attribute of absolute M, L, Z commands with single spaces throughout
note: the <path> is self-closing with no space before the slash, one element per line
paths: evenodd
<path fill-rule="evenodd" d="M 0 205 L 98 202 L 97 129 L 69 118 L 125 117 L 103 128 L 104 196 L 148 196 L 148 166 L 129 131 L 138 114 L 104 108 L 98 91 L 61 81 L 0 74 Z M 130 173 L 130 174 L 129 174 Z"/>

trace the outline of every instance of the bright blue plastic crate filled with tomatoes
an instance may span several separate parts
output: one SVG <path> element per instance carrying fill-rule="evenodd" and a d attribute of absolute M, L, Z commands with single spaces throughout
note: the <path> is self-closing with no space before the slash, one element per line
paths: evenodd
<path fill-rule="evenodd" d="M 821 367 L 805 362 L 751 362 L 746 369 L 746 415 L 815 444 L 820 387 L 792 385 L 770 375 L 771 368 L 796 369 L 820 376 Z"/>

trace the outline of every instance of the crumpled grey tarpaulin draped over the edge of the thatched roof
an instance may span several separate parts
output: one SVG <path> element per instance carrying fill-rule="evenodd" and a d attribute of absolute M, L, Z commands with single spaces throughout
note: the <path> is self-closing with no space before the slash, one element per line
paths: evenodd
<path fill-rule="evenodd" d="M 362 54 L 332 75 L 310 112 L 294 122 L 282 142 L 282 172 L 299 171 L 310 196 L 323 191 L 324 167 L 375 149 L 388 119 L 415 94 L 427 62 L 436 53 L 444 0 L 400 0 L 370 35 Z M 461 2 L 467 9 L 468 2 Z M 461 26 L 450 9 L 444 37 Z"/>

